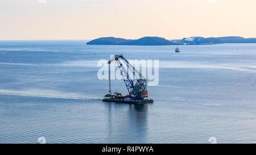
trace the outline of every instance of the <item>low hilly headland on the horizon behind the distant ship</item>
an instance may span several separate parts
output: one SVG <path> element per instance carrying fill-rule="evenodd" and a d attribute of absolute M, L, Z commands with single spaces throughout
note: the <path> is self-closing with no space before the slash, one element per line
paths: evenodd
<path fill-rule="evenodd" d="M 256 38 L 244 38 L 240 36 L 226 37 L 188 37 L 180 40 L 167 40 L 163 37 L 146 36 L 140 39 L 123 39 L 117 37 L 100 37 L 86 43 L 87 45 L 210 45 L 225 43 L 256 43 Z"/>

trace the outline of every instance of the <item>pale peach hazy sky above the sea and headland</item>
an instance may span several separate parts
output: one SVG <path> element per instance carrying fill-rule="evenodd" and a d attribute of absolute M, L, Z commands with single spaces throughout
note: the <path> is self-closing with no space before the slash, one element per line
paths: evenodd
<path fill-rule="evenodd" d="M 0 1 L 0 40 L 105 36 L 256 37 L 256 0 Z"/>

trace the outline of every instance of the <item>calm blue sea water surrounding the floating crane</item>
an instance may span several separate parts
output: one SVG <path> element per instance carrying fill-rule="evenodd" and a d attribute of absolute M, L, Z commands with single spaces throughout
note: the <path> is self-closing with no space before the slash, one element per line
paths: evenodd
<path fill-rule="evenodd" d="M 0 41 L 0 143 L 256 143 L 256 44 L 85 43 Z M 159 60 L 154 104 L 101 101 L 97 62 L 117 54 Z"/>

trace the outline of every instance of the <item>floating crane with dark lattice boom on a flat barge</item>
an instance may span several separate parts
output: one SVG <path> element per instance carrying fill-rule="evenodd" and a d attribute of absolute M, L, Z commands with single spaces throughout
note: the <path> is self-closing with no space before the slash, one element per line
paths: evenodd
<path fill-rule="evenodd" d="M 111 91 L 111 77 L 110 77 L 110 64 L 117 62 L 118 68 L 125 82 L 129 95 L 122 96 L 120 93 L 112 94 Z M 147 92 L 147 79 L 142 76 L 134 68 L 133 65 L 127 61 L 123 55 L 113 56 L 109 62 L 109 94 L 105 95 L 104 102 L 117 102 L 117 103 L 152 103 L 152 99 L 148 99 Z M 126 66 L 126 67 L 125 67 Z M 131 74 L 129 74 L 131 73 Z"/>

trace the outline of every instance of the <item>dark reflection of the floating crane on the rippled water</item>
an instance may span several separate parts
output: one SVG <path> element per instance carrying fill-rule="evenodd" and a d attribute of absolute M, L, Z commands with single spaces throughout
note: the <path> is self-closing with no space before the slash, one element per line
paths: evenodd
<path fill-rule="evenodd" d="M 110 143 L 114 143 L 114 137 L 123 137 L 130 143 L 135 141 L 144 143 L 147 140 L 147 104 L 120 104 L 120 103 L 105 103 L 108 108 L 108 139 Z M 119 108 L 125 108 L 125 113 L 117 116 L 115 113 Z M 118 117 L 118 118 L 114 118 Z M 117 120 L 118 119 L 118 120 Z M 116 126 L 119 122 L 119 127 Z M 128 137 L 128 139 L 127 139 Z"/>

